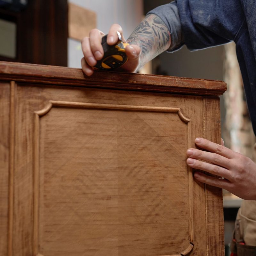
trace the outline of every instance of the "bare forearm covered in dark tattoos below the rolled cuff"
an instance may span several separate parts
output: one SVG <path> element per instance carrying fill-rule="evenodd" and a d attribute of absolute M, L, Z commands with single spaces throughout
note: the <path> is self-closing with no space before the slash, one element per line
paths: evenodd
<path fill-rule="evenodd" d="M 140 67 L 167 50 L 171 35 L 164 22 L 155 14 L 149 14 L 135 28 L 127 42 L 141 48 Z"/>

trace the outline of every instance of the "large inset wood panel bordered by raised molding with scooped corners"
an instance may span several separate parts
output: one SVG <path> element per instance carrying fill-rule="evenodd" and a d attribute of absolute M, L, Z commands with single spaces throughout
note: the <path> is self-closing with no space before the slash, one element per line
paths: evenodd
<path fill-rule="evenodd" d="M 38 252 L 190 251 L 189 120 L 179 108 L 62 105 L 37 112 Z"/>

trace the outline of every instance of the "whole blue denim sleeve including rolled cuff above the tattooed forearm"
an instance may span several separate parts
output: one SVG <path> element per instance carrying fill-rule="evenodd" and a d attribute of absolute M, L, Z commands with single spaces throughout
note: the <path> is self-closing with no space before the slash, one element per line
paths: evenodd
<path fill-rule="evenodd" d="M 169 28 L 171 51 L 184 43 L 191 51 L 226 44 L 235 39 L 244 21 L 240 0 L 176 0 L 149 13 Z"/>

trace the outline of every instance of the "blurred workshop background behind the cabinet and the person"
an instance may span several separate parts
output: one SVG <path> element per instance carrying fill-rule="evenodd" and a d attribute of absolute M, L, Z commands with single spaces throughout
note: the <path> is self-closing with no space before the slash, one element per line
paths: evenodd
<path fill-rule="evenodd" d="M 0 0 L 0 60 L 80 68 L 80 41 L 92 28 L 108 33 L 118 23 L 126 38 L 146 13 L 168 0 Z M 22 49 L 22 50 L 21 50 Z M 189 52 L 164 52 L 141 73 L 224 80 L 221 96 L 225 146 L 251 157 L 255 136 L 248 115 L 235 45 Z M 234 227 L 241 200 L 224 195 L 225 244 Z"/>

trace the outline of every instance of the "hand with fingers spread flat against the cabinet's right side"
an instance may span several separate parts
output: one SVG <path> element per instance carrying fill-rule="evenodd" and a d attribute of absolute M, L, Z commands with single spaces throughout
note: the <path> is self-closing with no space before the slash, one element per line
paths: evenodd
<path fill-rule="evenodd" d="M 256 200 L 256 164 L 250 158 L 225 148 L 223 140 L 222 145 L 202 138 L 197 138 L 195 143 L 208 152 L 189 148 L 187 164 L 220 177 L 195 172 L 196 180 L 224 188 L 245 200 Z"/>

